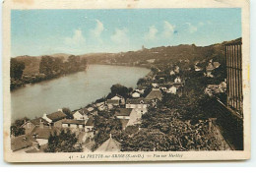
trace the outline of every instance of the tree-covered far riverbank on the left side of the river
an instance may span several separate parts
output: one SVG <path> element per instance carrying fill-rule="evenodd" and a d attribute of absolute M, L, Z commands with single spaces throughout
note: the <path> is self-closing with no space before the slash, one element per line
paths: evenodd
<path fill-rule="evenodd" d="M 66 59 L 63 57 L 42 56 L 40 60 L 36 59 L 35 62 L 33 62 L 32 58 L 23 56 L 11 59 L 11 91 L 28 84 L 36 84 L 85 71 L 88 66 L 85 58 L 75 55 L 70 55 Z M 35 63 L 38 64 L 38 69 L 34 71 Z"/>

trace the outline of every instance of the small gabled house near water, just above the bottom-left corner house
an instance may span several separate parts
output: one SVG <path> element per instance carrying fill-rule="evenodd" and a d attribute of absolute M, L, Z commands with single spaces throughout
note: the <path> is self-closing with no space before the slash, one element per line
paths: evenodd
<path fill-rule="evenodd" d="M 42 122 L 42 124 L 41 124 Z M 22 128 L 25 129 L 25 134 L 29 135 L 32 133 L 33 128 L 35 128 L 36 126 L 45 126 L 48 127 L 48 122 L 46 120 L 44 120 L 43 118 L 35 118 L 33 120 L 29 120 L 26 121 L 23 125 Z"/>

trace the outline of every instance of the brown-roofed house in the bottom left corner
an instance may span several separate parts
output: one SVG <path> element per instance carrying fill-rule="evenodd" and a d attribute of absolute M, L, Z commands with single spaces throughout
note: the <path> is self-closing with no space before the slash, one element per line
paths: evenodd
<path fill-rule="evenodd" d="M 31 135 L 21 135 L 19 137 L 11 138 L 11 149 L 14 152 L 25 152 L 30 150 L 33 145 L 37 145 L 37 142 Z"/>

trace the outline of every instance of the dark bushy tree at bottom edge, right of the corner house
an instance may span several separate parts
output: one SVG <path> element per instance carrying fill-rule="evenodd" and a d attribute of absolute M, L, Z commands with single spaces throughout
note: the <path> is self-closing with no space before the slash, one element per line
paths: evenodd
<path fill-rule="evenodd" d="M 48 139 L 45 152 L 82 152 L 81 146 L 77 146 L 78 139 L 76 134 L 68 130 L 62 130 L 58 135 L 56 131 Z"/>

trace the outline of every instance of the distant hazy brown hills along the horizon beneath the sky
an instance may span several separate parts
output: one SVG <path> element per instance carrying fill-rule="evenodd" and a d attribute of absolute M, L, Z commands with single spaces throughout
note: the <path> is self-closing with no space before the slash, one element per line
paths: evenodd
<path fill-rule="evenodd" d="M 215 59 L 221 64 L 224 63 L 224 44 L 241 41 L 237 38 L 230 41 L 224 41 L 209 46 L 196 46 L 194 44 L 181 44 L 177 46 L 161 46 L 151 49 L 144 48 L 138 51 L 128 51 L 120 53 L 90 53 L 79 55 L 86 58 L 90 64 L 113 64 L 113 65 L 137 65 L 144 66 L 151 64 L 149 61 L 154 60 L 154 65 L 167 64 L 170 61 L 190 60 L 191 62 L 206 62 Z M 58 53 L 49 55 L 52 57 L 62 58 L 66 61 L 70 54 Z M 26 68 L 24 75 L 33 75 L 39 71 L 39 63 L 42 56 L 19 56 L 15 57 L 18 61 L 25 62 Z"/>

